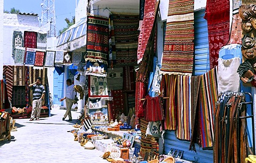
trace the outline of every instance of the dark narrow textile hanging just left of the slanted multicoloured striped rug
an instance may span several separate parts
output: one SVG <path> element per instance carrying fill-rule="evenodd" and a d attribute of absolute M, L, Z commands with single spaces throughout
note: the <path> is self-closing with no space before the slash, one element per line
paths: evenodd
<path fill-rule="evenodd" d="M 200 147 L 201 144 L 201 129 L 199 124 L 199 88 L 201 84 L 201 76 L 191 77 L 191 140 L 189 145 L 189 150 L 196 152 L 195 144 Z"/>

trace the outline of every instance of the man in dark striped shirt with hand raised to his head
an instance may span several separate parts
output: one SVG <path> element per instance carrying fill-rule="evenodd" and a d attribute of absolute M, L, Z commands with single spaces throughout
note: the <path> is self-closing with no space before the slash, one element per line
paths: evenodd
<path fill-rule="evenodd" d="M 29 121 L 34 120 L 35 117 L 36 120 L 39 120 L 40 117 L 42 102 L 45 94 L 44 86 L 41 84 L 41 80 L 41 77 L 37 77 L 35 83 L 28 85 L 33 91 L 32 113 Z"/>

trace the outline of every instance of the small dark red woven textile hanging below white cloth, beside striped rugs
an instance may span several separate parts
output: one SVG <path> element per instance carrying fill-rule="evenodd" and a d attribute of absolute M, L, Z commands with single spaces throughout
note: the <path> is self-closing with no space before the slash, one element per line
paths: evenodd
<path fill-rule="evenodd" d="M 160 97 L 146 96 L 145 120 L 158 121 L 164 119 L 164 108 Z"/>

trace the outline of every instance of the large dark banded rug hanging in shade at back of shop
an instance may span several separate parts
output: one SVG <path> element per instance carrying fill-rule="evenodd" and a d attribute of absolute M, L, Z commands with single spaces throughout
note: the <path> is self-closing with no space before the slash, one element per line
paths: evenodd
<path fill-rule="evenodd" d="M 111 17 L 113 18 L 115 37 L 115 47 L 112 47 L 112 52 L 116 52 L 115 66 L 137 65 L 139 15 L 113 14 Z"/>

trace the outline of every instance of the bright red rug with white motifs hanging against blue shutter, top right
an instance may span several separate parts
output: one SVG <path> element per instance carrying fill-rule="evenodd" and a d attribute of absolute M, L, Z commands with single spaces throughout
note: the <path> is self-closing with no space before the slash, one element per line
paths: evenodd
<path fill-rule="evenodd" d="M 210 69 L 218 66 L 219 50 L 229 40 L 229 1 L 208 0 L 205 19 L 208 25 Z"/>

